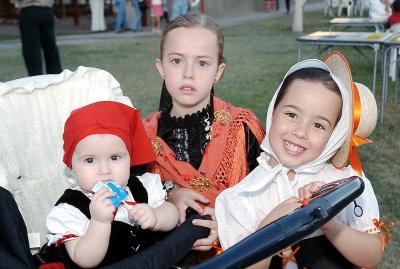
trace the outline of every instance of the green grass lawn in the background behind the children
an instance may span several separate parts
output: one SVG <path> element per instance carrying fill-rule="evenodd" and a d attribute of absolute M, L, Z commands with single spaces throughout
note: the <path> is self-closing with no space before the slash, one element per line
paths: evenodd
<path fill-rule="evenodd" d="M 305 32 L 328 29 L 328 18 L 322 12 L 306 13 Z M 251 108 L 264 122 L 266 108 L 288 68 L 297 60 L 291 17 L 224 29 L 227 68 L 216 85 L 216 94 L 235 105 Z M 315 51 L 304 46 L 303 55 Z M 339 47 L 348 57 L 355 81 L 371 86 L 372 65 L 352 48 Z M 64 68 L 75 70 L 79 65 L 108 70 L 121 83 L 125 94 L 146 115 L 157 109 L 161 79 L 154 68 L 159 53 L 158 38 L 109 41 L 60 47 Z M 365 49 L 370 53 L 370 49 Z M 371 54 L 372 57 L 372 54 Z M 21 51 L 0 51 L 0 81 L 26 76 Z M 12 63 L 12 64 L 10 64 Z M 379 69 L 378 69 L 379 70 Z M 378 74 L 377 101 L 380 101 L 381 75 Z M 364 171 L 372 181 L 378 198 L 382 220 L 400 219 L 400 105 L 394 105 L 393 84 L 385 121 L 378 124 L 371 138 L 375 144 L 359 150 Z M 379 268 L 400 268 L 400 229 L 392 231 Z"/>

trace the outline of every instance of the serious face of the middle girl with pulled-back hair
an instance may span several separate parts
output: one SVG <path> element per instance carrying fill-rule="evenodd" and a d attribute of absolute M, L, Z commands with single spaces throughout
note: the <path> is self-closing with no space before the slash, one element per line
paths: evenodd
<path fill-rule="evenodd" d="M 225 68 L 218 64 L 217 37 L 201 27 L 180 27 L 168 32 L 163 58 L 156 60 L 172 97 L 173 116 L 192 114 L 206 107 L 210 92 Z"/>

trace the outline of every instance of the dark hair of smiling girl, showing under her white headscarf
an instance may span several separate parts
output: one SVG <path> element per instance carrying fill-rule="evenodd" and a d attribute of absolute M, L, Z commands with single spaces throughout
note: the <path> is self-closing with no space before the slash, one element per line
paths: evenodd
<path fill-rule="evenodd" d="M 282 83 L 281 89 L 278 93 L 278 96 L 276 97 L 274 109 L 282 101 L 283 97 L 285 96 L 285 94 L 287 92 L 287 89 L 296 79 L 321 82 L 326 88 L 337 93 L 340 97 L 342 97 L 342 94 L 340 93 L 340 89 L 339 89 L 338 85 L 333 80 L 333 78 L 330 76 L 330 74 L 327 70 L 324 70 L 321 68 L 315 68 L 315 67 L 303 68 L 303 69 L 294 71 L 293 73 L 291 73 L 290 75 L 288 75 L 285 78 L 285 80 Z"/>

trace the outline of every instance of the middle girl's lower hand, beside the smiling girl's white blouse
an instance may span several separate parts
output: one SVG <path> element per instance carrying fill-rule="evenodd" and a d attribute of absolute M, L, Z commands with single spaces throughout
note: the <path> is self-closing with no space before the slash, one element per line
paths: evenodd
<path fill-rule="evenodd" d="M 195 219 L 195 220 L 193 220 L 193 224 L 209 228 L 210 234 L 208 235 L 208 237 L 199 239 L 196 242 L 194 242 L 192 249 L 207 251 L 207 250 L 211 249 L 212 243 L 217 241 L 217 239 L 218 239 L 218 225 L 217 225 L 217 221 L 215 219 L 214 208 L 205 207 L 202 215 L 210 215 L 212 219 L 211 220 Z"/>

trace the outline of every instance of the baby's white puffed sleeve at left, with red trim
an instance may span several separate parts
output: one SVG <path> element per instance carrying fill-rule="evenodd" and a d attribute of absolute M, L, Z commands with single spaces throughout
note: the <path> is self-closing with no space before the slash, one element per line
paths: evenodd
<path fill-rule="evenodd" d="M 47 215 L 48 244 L 79 237 L 86 233 L 88 225 L 89 219 L 79 209 L 66 203 L 59 204 Z"/>

